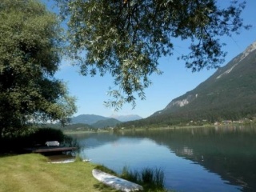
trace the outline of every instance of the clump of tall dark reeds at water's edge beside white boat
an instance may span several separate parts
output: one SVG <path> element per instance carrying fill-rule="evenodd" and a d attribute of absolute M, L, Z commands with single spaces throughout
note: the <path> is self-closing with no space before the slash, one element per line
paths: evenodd
<path fill-rule="evenodd" d="M 146 167 L 138 172 L 138 170 L 130 170 L 125 166 L 122 169 L 121 177 L 142 185 L 146 191 L 166 191 L 164 188 L 164 173 L 158 168 Z"/>

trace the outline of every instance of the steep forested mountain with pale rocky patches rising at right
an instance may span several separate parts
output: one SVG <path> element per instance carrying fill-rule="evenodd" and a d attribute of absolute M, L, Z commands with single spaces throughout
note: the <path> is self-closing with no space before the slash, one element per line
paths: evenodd
<path fill-rule="evenodd" d="M 132 123 L 134 126 L 174 125 L 252 117 L 256 117 L 256 42 L 194 90 L 174 98 L 149 118 Z"/>

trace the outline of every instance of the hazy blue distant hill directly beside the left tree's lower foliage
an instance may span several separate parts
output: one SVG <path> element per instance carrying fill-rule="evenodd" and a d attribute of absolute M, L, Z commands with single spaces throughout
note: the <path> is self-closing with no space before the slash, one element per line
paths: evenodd
<path fill-rule="evenodd" d="M 95 115 L 95 114 L 80 114 L 74 118 L 71 118 L 71 123 L 84 123 L 88 125 L 92 125 L 95 122 L 101 121 L 101 120 L 106 120 L 108 118 L 100 116 L 100 115 Z"/>

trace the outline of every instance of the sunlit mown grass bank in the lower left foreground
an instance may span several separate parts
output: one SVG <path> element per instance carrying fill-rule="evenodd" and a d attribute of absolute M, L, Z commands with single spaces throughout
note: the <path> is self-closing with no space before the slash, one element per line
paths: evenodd
<path fill-rule="evenodd" d="M 115 191 L 93 178 L 88 162 L 50 164 L 40 154 L 0 157 L 1 192 Z"/>

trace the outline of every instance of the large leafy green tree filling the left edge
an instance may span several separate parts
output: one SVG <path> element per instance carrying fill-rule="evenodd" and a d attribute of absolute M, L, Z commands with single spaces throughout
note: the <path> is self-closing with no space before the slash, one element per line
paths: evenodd
<path fill-rule="evenodd" d="M 0 138 L 32 122 L 66 121 L 74 98 L 54 78 L 61 28 L 36 0 L 0 2 Z"/>

